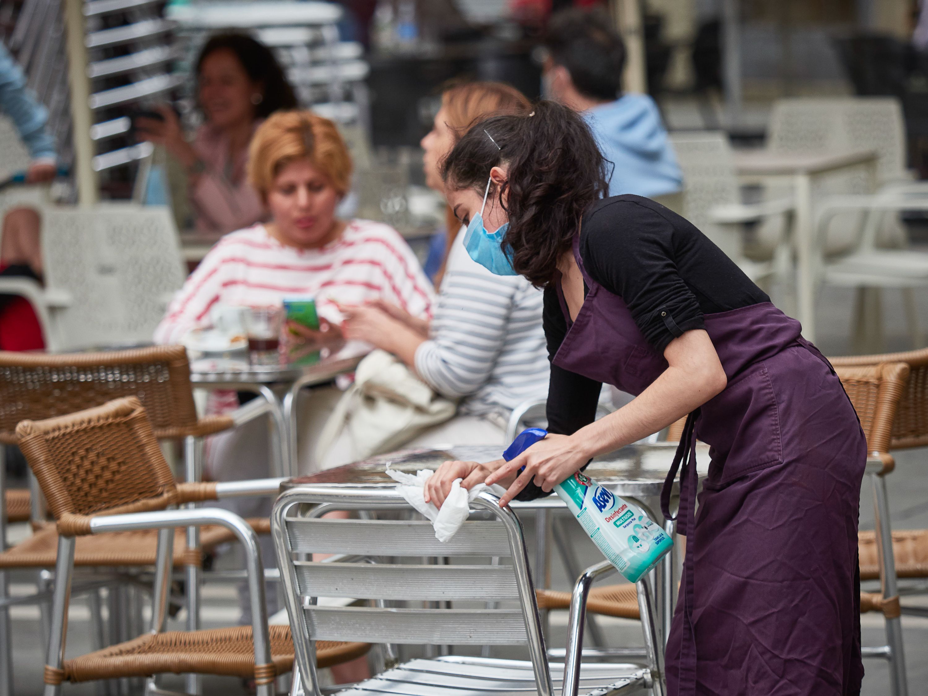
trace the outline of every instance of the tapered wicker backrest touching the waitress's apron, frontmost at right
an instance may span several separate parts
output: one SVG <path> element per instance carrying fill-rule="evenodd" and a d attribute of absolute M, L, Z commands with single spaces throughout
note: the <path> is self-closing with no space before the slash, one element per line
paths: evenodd
<path fill-rule="evenodd" d="M 884 462 L 891 463 L 888 452 L 893 421 L 899 397 L 909 379 L 909 366 L 902 362 L 835 366 L 835 372 L 857 411 L 870 454 L 881 455 Z"/>

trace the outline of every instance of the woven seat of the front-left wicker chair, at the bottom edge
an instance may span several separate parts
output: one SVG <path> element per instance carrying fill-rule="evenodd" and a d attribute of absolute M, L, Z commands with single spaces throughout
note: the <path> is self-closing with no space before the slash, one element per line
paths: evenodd
<path fill-rule="evenodd" d="M 293 668 L 290 626 L 272 625 L 271 661 L 277 675 Z M 330 667 L 364 655 L 368 643 L 316 642 L 316 664 Z M 156 674 L 201 674 L 253 678 L 254 643 L 251 626 L 204 631 L 148 634 L 91 652 L 63 664 L 69 681 L 92 681 Z"/>

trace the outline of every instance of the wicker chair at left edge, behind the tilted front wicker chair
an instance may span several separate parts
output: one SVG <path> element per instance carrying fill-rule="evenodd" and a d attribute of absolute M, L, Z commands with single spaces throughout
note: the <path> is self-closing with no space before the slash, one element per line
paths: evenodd
<path fill-rule="evenodd" d="M 0 448 L 17 444 L 16 426 L 23 419 L 47 419 L 98 406 L 120 396 L 135 396 L 146 407 L 155 437 L 184 440 L 188 481 L 200 479 L 200 444 L 203 437 L 223 432 L 269 409 L 264 399 L 255 399 L 232 414 L 198 418 L 190 383 L 187 352 L 183 346 L 153 346 L 108 353 L 28 354 L 0 352 Z M 280 462 L 277 461 L 279 470 Z M 32 482 L 35 488 L 34 481 Z M 0 478 L 0 490 L 3 490 Z M 6 521 L 23 519 L 31 509 L 33 522 L 45 520 L 41 496 L 28 492 L 6 492 L 6 519 L 0 514 L 0 550 L 6 548 Z M 14 513 L 13 514 L 10 513 Z M 257 522 L 266 531 L 269 522 Z M 178 533 L 180 537 L 181 533 Z M 202 539 L 200 539 L 202 535 Z M 232 540 L 226 529 L 207 527 L 187 530 L 186 542 L 178 538 L 175 561 L 187 561 L 187 628 L 200 627 L 199 586 L 201 551 Z M 186 548 L 185 548 L 186 543 Z M 135 566 L 154 562 L 157 535 L 143 532 L 133 536 L 87 537 L 77 545 L 79 566 Z M 54 567 L 57 537 L 54 527 L 41 529 L 17 548 L 0 556 L 0 570 L 13 567 Z M 2 574 L 2 572 L 0 572 Z M 0 602 L 6 586 L 0 579 Z M 4 634 L 5 612 L 0 609 L 0 634 Z M 2 638 L 2 636 L 0 636 Z M 0 639 L 0 674 L 11 669 L 9 652 Z M 9 665 L 9 669 L 4 669 Z M 0 677 L 2 679 L 4 677 Z"/>

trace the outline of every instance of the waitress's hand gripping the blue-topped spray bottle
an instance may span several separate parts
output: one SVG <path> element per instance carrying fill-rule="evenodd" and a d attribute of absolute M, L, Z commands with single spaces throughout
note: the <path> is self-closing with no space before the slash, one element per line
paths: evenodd
<path fill-rule="evenodd" d="M 530 481 L 543 491 L 550 492 L 558 483 L 580 470 L 589 458 L 586 448 L 579 446 L 574 436 L 548 433 L 544 440 L 535 443 L 517 458 L 504 462 L 486 477 L 485 483 L 509 486 L 505 495 L 499 498 L 499 507 L 505 508 Z M 522 467 L 525 470 L 519 473 Z M 514 476 L 515 481 L 509 483 Z"/>

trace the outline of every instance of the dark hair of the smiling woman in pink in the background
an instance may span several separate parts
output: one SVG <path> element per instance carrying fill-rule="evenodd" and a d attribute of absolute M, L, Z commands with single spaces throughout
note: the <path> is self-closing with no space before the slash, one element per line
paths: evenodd
<path fill-rule="evenodd" d="M 203 60 L 216 51 L 232 51 L 248 73 L 251 82 L 261 83 L 264 87 L 263 99 L 254 107 L 254 115 L 266 119 L 275 111 L 296 109 L 298 104 L 293 87 L 287 82 L 277 58 L 271 50 L 260 41 L 255 41 L 248 34 L 238 32 L 213 34 L 200 49 L 197 57 L 197 75 Z"/>

